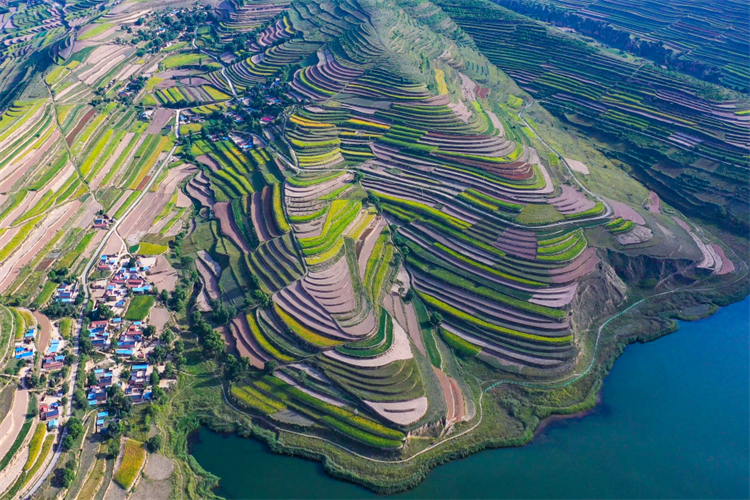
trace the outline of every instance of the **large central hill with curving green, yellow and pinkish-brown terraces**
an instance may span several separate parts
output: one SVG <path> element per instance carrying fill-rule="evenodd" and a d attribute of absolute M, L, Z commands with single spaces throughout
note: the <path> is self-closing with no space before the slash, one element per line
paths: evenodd
<path fill-rule="evenodd" d="M 520 116 L 534 89 L 501 73 L 490 42 L 473 41 L 448 10 L 296 1 L 261 14 L 277 7 L 235 6 L 200 37 L 198 66 L 170 56 L 192 64 L 193 80 L 248 96 L 188 113 L 226 110 L 249 118 L 252 134 L 263 112 L 243 115 L 245 103 L 258 106 L 258 89 L 285 91 L 284 111 L 236 160 L 226 156 L 236 137 L 190 136 L 203 172 L 187 193 L 211 208 L 189 237 L 199 301 L 238 312 L 226 342 L 263 371 L 235 381 L 233 404 L 368 453 L 410 453 L 420 445 L 406 433 L 477 416 L 456 356 L 533 380 L 585 363 L 588 320 L 575 304 L 608 266 L 601 239 L 659 253 L 675 221 L 644 218 L 576 179 L 586 165 L 559 158 Z M 247 28 L 235 25 L 240 12 Z M 219 56 L 232 30 L 242 43 Z M 206 66 L 211 55 L 222 69 Z M 726 256 L 682 230 L 697 238 L 682 258 L 729 272 Z"/>

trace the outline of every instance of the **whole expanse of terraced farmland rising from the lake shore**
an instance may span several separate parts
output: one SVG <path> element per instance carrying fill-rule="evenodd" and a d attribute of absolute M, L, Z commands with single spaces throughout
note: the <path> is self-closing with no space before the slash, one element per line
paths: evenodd
<path fill-rule="evenodd" d="M 42 380 L 6 357 L 43 313 L 45 339 L 76 355 L 31 389 L 67 388 L 62 422 L 98 425 L 97 400 L 81 398 L 93 373 L 78 370 L 157 374 L 153 402 L 131 390 L 124 411 L 110 391 L 122 424 L 63 453 L 68 496 L 168 498 L 168 483 L 210 497 L 216 478 L 186 458 L 199 425 L 401 491 L 590 408 L 626 343 L 747 293 L 736 6 L 688 45 L 692 4 L 636 29 L 623 2 L 497 3 L 606 20 L 680 53 L 663 69 L 484 0 L 2 14 L 2 368 Z M 679 61 L 716 71 L 670 71 Z M 117 331 L 153 325 L 149 347 L 76 338 L 110 316 Z M 26 397 L 5 391 L 4 412 Z M 162 459 L 171 479 L 152 477 Z M 63 471 L 25 460 L 11 483 L 60 496 Z"/>

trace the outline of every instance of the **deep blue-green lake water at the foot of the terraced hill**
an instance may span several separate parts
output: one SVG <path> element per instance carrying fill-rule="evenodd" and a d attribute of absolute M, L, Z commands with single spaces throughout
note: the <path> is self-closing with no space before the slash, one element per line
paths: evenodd
<path fill-rule="evenodd" d="M 231 500 L 382 498 L 250 439 L 202 429 L 193 454 Z M 628 347 L 589 416 L 438 467 L 395 498 L 750 499 L 750 298 Z"/>

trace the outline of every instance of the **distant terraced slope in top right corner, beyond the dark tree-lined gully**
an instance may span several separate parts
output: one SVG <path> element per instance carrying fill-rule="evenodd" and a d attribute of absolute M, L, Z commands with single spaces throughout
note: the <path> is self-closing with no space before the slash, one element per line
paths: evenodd
<path fill-rule="evenodd" d="M 742 92 L 750 90 L 750 25 L 742 2 L 714 2 L 708 8 L 697 1 L 497 3 L 698 78 Z"/>

